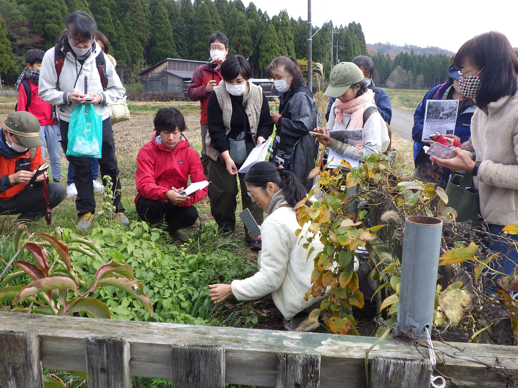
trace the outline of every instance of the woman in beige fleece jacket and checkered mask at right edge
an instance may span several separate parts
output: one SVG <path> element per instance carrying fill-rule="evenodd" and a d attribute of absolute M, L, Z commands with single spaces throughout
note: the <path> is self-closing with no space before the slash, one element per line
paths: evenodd
<path fill-rule="evenodd" d="M 455 67 L 462 69 L 463 95 L 477 102 L 469 140 L 476 160 L 461 148 L 455 148 L 453 159 L 430 159 L 453 171 L 472 172 L 481 216 L 490 232 L 499 235 L 504 226 L 518 221 L 518 59 L 505 35 L 488 32 L 463 44 Z M 518 241 L 517 235 L 507 237 Z M 487 248 L 504 255 L 498 271 L 510 274 L 518 264 L 516 248 L 502 240 L 493 238 Z"/>

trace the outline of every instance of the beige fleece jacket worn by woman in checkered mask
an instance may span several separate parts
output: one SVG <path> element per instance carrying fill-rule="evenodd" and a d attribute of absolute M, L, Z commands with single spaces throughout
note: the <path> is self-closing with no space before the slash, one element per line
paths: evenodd
<path fill-rule="evenodd" d="M 474 183 L 488 223 L 518 221 L 518 93 L 480 109 L 471 119 L 471 143 L 480 167 Z"/>

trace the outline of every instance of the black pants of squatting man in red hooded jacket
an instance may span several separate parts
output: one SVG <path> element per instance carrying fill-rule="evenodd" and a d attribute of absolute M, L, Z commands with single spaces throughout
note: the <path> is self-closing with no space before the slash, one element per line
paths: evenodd
<path fill-rule="evenodd" d="M 137 214 L 148 223 L 167 223 L 168 232 L 176 232 L 194 225 L 198 219 L 196 207 L 177 206 L 162 199 L 147 199 L 139 197 L 136 203 Z"/>

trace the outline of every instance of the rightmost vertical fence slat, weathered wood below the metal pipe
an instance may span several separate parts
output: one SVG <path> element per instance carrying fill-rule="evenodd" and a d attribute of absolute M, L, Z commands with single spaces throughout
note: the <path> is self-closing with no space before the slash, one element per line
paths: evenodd
<path fill-rule="evenodd" d="M 369 388 L 429 388 L 429 360 L 374 357 L 370 360 Z"/>

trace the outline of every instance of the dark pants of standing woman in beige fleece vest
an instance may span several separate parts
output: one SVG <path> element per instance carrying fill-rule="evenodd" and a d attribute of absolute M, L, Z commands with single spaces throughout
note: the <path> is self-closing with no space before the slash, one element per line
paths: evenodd
<path fill-rule="evenodd" d="M 247 154 L 250 154 L 254 147 L 253 142 L 247 143 Z M 237 166 L 239 168 L 239 166 Z M 237 207 L 237 178 L 241 186 L 241 202 L 244 208 L 249 208 L 258 225 L 263 223 L 263 209 L 258 207 L 252 198 L 247 194 L 247 186 L 244 184 L 244 173 L 231 175 L 226 170 L 225 163 L 220 159 L 209 159 L 209 199 L 210 212 L 218 223 L 218 226 L 225 229 L 236 229 L 236 207 Z M 244 227 L 244 241 L 252 241 L 248 230 Z"/>

